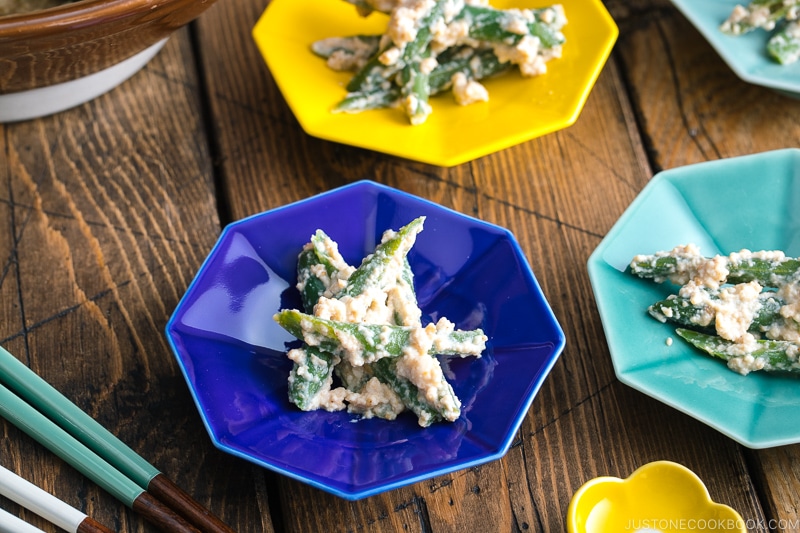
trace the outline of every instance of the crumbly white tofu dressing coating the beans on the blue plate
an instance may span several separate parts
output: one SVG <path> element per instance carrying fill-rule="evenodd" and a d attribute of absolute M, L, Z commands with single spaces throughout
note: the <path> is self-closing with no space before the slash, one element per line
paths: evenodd
<path fill-rule="evenodd" d="M 387 230 L 381 241 L 386 242 L 395 235 L 395 231 Z M 407 246 L 410 248 L 413 242 L 414 239 L 411 239 Z M 388 284 L 383 284 L 384 288 L 371 286 L 358 296 L 336 298 L 336 294 L 346 284 L 346 278 L 349 278 L 355 269 L 347 266 L 339 254 L 338 246 L 330 238 L 325 239 L 324 250 L 331 257 L 337 258 L 337 268 L 340 267 L 344 274 L 336 276 L 333 280 L 327 277 L 327 273 L 325 277 L 318 276 L 326 285 L 330 282 L 332 287 L 320 297 L 314 307 L 314 315 L 351 323 L 403 325 L 414 328 L 411 343 L 404 348 L 398 360 L 397 375 L 411 381 L 422 391 L 425 398 L 443 413 L 445 420 L 453 421 L 458 418 L 460 402 L 449 390 L 443 390 L 442 384 L 446 382 L 441 365 L 429 352 L 432 347 L 436 347 L 437 350 L 456 348 L 462 354 L 480 357 L 485 348 L 486 336 L 483 336 L 482 342 L 479 339 L 454 346 L 449 334 L 455 330 L 455 325 L 446 318 L 440 318 L 435 324 L 422 326 L 422 311 L 417 306 L 414 288 L 404 276 L 405 263 L 397 259 L 398 256 L 405 257 L 405 254 L 392 256 L 393 260 L 389 262 L 388 267 L 381 271 L 382 279 L 390 280 Z M 324 269 L 322 270 L 324 272 Z M 297 288 L 302 291 L 306 281 L 298 281 Z M 314 326 L 310 321 L 303 321 L 301 327 L 306 334 L 305 341 L 309 345 L 318 345 L 321 342 L 322 339 L 315 336 Z M 389 333 L 389 328 L 386 328 L 386 333 Z M 339 364 L 337 368 L 345 386 L 332 388 L 333 379 L 329 377 L 322 384 L 310 409 L 339 411 L 346 408 L 348 412 L 359 414 L 364 418 L 395 419 L 405 410 L 402 400 L 391 387 L 371 377 L 369 372 L 370 362 L 382 355 L 388 355 L 382 352 L 381 347 L 381 344 L 385 345 L 389 341 L 388 336 L 381 336 L 379 344 L 375 346 L 377 357 L 366 357 L 364 347 L 352 335 L 339 334 L 337 339 L 344 349 L 341 358 L 343 364 Z M 302 349 L 289 352 L 289 358 L 298 363 L 305 361 L 305 357 L 307 355 Z M 356 391 L 349 390 L 354 387 L 359 388 Z M 425 416 L 421 415 L 419 420 L 422 426 L 429 423 Z"/>

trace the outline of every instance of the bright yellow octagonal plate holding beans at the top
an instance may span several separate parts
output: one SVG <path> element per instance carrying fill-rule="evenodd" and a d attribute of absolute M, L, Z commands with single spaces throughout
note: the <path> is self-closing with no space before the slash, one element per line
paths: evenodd
<path fill-rule="evenodd" d="M 572 125 L 608 59 L 619 30 L 601 0 L 493 0 L 498 9 L 559 3 L 567 25 L 562 57 L 542 76 L 516 70 L 482 83 L 489 101 L 460 106 L 431 98 L 433 112 L 412 126 L 402 111 L 332 113 L 352 73 L 335 72 L 311 52 L 326 37 L 380 34 L 388 17 L 361 17 L 344 0 L 272 0 L 253 38 L 300 126 L 321 139 L 439 166 L 453 166 Z"/>

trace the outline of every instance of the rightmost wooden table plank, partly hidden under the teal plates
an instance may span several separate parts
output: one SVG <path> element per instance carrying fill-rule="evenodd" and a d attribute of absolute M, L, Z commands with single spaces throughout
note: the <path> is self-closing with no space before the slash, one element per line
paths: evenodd
<path fill-rule="evenodd" d="M 797 100 L 740 80 L 668 2 L 637 4 L 618 50 L 656 169 L 798 146 Z M 746 455 L 772 527 L 796 530 L 800 445 Z"/>

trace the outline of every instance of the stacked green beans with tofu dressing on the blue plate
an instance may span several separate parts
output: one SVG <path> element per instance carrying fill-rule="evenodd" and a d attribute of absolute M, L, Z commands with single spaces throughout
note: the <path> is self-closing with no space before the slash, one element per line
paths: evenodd
<path fill-rule="evenodd" d="M 346 408 L 390 420 L 407 409 L 423 427 L 460 416 L 438 357 L 480 357 L 487 337 L 480 329 L 457 330 L 446 318 L 423 326 L 407 257 L 423 223 L 420 217 L 386 231 L 358 268 L 321 230 L 300 252 L 305 312 L 274 316 L 303 341 L 288 353 L 289 400 L 300 409 Z"/>

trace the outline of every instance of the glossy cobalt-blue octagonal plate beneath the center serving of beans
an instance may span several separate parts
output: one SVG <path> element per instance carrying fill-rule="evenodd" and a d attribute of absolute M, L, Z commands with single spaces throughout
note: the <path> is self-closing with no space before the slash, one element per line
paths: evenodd
<path fill-rule="evenodd" d="M 483 357 L 444 365 L 461 417 L 421 428 L 410 413 L 298 410 L 287 399 L 294 339 L 272 315 L 300 308 L 301 247 L 321 228 L 358 264 L 384 230 L 420 215 L 409 261 L 423 321 L 489 337 Z M 370 181 L 228 225 L 166 333 L 218 448 L 351 500 L 502 457 L 565 342 L 508 230 Z"/>

